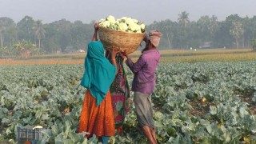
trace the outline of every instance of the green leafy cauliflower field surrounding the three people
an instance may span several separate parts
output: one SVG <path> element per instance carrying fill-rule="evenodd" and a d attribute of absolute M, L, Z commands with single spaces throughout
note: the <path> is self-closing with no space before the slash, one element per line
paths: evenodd
<path fill-rule="evenodd" d="M 42 143 L 94 143 L 77 134 L 82 64 L 0 67 L 0 142 L 43 126 Z M 131 85 L 130 70 L 126 68 Z M 131 94 L 133 97 L 133 93 Z M 160 63 L 152 96 L 159 143 L 256 143 L 256 61 Z M 111 143 L 145 143 L 134 107 Z"/>

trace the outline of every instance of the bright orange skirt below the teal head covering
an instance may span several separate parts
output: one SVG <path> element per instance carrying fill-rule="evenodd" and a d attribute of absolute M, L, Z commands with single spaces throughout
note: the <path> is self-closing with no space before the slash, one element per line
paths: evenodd
<path fill-rule="evenodd" d="M 87 138 L 92 136 L 92 134 L 95 134 L 97 137 L 110 137 L 115 134 L 110 91 L 107 92 L 102 103 L 97 106 L 96 98 L 90 94 L 90 90 L 86 90 L 78 133 L 83 131 L 90 133 L 86 135 Z"/>

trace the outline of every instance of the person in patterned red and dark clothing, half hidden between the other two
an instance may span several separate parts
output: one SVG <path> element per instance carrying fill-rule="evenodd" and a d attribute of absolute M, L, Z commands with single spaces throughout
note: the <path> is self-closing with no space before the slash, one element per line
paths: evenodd
<path fill-rule="evenodd" d="M 106 52 L 106 58 L 111 59 L 111 53 Z M 126 72 L 123 68 L 123 59 L 120 55 L 116 56 L 118 74 L 114 82 L 110 86 L 110 93 L 112 97 L 112 106 L 114 111 L 114 124 L 117 132 L 122 134 L 122 125 L 125 120 L 127 112 L 130 110 L 130 90 L 126 78 Z"/>

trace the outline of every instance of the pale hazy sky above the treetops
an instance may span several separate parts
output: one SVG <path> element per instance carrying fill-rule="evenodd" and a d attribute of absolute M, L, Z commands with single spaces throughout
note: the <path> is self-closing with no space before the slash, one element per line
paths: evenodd
<path fill-rule="evenodd" d="M 203 15 L 215 15 L 219 21 L 230 14 L 252 18 L 256 15 L 255 7 L 256 0 L 0 0 L 0 17 L 15 22 L 28 15 L 42 23 L 62 18 L 89 23 L 113 15 L 150 24 L 166 19 L 177 21 L 182 11 L 189 13 L 190 21 L 197 21 Z"/>

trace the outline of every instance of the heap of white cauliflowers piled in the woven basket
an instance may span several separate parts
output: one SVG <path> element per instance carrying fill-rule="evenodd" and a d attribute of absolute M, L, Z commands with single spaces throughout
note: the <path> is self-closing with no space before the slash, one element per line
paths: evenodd
<path fill-rule="evenodd" d="M 137 19 L 122 17 L 115 20 L 114 16 L 110 15 L 106 19 L 101 19 L 100 26 L 111 30 L 126 31 L 129 33 L 144 33 L 145 24 Z"/>

